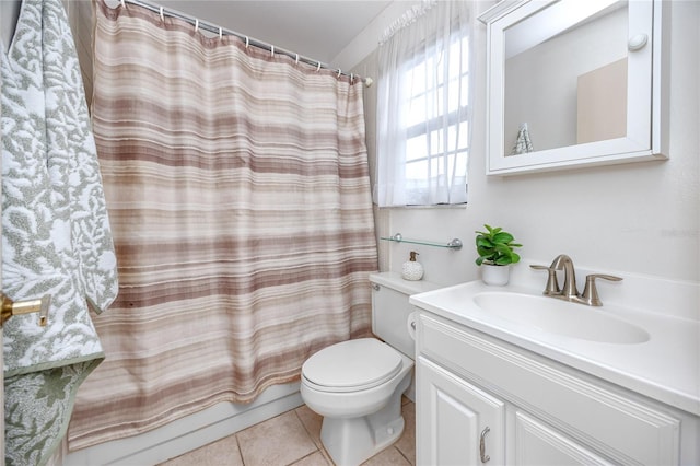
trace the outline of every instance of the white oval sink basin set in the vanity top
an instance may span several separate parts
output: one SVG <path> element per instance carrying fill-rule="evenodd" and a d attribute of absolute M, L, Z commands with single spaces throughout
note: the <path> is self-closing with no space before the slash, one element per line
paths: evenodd
<path fill-rule="evenodd" d="M 642 343 L 641 327 L 606 314 L 605 310 L 517 292 L 480 292 L 474 303 L 493 316 L 560 336 L 607 343 Z"/>

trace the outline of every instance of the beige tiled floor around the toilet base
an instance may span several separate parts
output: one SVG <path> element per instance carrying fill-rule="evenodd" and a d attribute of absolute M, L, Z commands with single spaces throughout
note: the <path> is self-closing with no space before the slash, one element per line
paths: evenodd
<path fill-rule="evenodd" d="M 404 434 L 366 466 L 416 464 L 416 407 L 404 398 Z M 202 446 L 162 466 L 332 466 L 320 443 L 320 416 L 305 405 Z"/>

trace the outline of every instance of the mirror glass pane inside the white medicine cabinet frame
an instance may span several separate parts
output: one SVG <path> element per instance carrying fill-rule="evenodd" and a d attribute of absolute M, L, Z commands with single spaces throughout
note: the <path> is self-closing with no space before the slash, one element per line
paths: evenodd
<path fill-rule="evenodd" d="M 546 12 L 504 31 L 504 155 L 627 133 L 627 2 L 590 18 Z"/>

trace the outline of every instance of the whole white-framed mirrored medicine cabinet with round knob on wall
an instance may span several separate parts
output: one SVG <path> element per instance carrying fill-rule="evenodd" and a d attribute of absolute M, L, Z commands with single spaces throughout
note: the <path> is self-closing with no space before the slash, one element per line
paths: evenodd
<path fill-rule="evenodd" d="M 661 1 L 503 1 L 480 20 L 487 174 L 666 159 Z"/>

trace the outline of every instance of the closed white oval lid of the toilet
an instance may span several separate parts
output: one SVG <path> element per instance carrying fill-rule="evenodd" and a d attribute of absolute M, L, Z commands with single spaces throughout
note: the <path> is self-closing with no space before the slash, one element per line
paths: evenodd
<path fill-rule="evenodd" d="M 374 338 L 361 338 L 324 348 L 304 362 L 302 373 L 319 387 L 342 392 L 377 386 L 400 369 L 398 351 Z"/>

